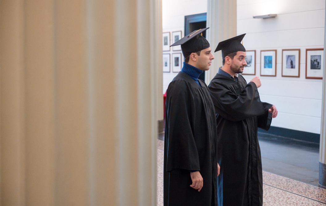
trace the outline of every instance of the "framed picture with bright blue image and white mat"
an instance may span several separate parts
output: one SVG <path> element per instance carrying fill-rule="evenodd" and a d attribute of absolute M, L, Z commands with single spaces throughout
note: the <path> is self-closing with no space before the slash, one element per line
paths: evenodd
<path fill-rule="evenodd" d="M 276 76 L 276 49 L 260 51 L 260 76 Z"/>

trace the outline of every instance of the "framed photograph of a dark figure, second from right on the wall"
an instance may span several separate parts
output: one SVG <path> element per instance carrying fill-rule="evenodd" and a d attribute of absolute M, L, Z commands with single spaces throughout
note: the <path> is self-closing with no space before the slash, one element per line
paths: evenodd
<path fill-rule="evenodd" d="M 300 49 L 282 49 L 282 76 L 300 77 Z"/>

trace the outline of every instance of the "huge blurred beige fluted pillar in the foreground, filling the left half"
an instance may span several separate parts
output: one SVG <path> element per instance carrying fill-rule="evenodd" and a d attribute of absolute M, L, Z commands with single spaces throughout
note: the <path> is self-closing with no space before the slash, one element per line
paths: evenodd
<path fill-rule="evenodd" d="M 156 205 L 161 0 L 0 0 L 0 206 Z"/>

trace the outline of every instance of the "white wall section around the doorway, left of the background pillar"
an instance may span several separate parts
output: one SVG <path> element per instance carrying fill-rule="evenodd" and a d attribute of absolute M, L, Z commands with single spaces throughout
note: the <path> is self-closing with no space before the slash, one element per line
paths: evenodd
<path fill-rule="evenodd" d="M 182 37 L 185 36 L 185 16 L 207 12 L 207 0 L 162 0 L 162 18 L 163 32 L 182 31 Z M 181 51 L 164 51 L 164 54 L 181 53 Z M 182 56 L 183 58 L 183 56 Z M 183 61 L 182 61 L 183 62 Z M 170 61 L 170 73 L 163 73 L 163 93 L 168 89 L 172 79 L 178 73 L 172 73 L 172 61 Z"/>

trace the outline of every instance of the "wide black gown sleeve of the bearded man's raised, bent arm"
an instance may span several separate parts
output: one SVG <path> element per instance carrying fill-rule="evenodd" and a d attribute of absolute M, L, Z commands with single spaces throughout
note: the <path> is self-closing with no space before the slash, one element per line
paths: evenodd
<path fill-rule="evenodd" d="M 249 82 L 239 95 L 221 82 L 212 81 L 208 87 L 216 113 L 225 119 L 240 121 L 265 114 L 266 108 L 253 82 Z"/>

